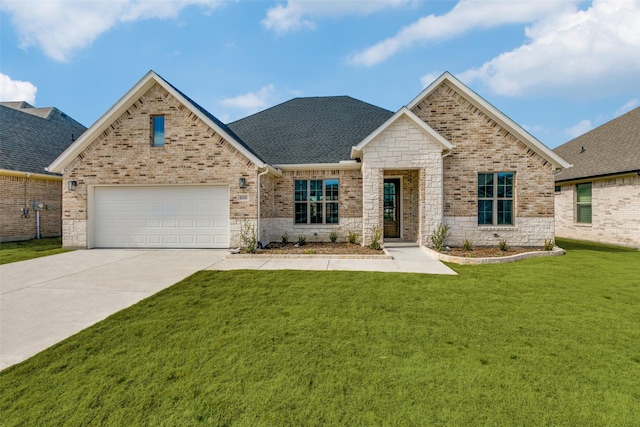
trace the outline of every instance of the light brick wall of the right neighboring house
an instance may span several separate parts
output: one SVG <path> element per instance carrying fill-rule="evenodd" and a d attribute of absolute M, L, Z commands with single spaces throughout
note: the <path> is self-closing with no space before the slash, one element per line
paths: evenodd
<path fill-rule="evenodd" d="M 640 176 L 593 180 L 591 224 L 575 222 L 575 184 L 555 196 L 556 235 L 640 248 Z"/>

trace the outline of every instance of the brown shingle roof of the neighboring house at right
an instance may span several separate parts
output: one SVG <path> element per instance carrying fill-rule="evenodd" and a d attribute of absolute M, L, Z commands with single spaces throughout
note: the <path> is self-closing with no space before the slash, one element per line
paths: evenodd
<path fill-rule="evenodd" d="M 640 107 L 597 127 L 554 150 L 573 164 L 556 182 L 640 173 Z"/>

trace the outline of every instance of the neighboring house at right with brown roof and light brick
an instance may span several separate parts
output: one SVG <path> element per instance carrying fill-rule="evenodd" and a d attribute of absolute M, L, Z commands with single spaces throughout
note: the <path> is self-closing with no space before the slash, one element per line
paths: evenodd
<path fill-rule="evenodd" d="M 640 248 L 640 108 L 554 150 L 556 234 Z"/>

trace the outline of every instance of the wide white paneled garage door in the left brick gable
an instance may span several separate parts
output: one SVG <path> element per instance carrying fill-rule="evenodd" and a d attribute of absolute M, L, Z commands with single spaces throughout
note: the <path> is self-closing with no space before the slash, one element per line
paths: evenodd
<path fill-rule="evenodd" d="M 97 248 L 226 248 L 229 188 L 96 187 Z"/>

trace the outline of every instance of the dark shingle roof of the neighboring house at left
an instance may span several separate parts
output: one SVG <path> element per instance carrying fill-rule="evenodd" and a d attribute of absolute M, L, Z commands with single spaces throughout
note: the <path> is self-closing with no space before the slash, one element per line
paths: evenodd
<path fill-rule="evenodd" d="M 49 174 L 45 168 L 86 130 L 54 107 L 0 103 L 0 169 Z"/>

